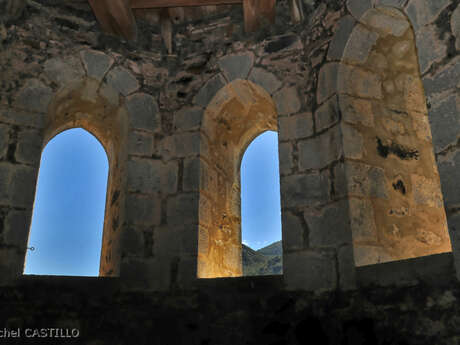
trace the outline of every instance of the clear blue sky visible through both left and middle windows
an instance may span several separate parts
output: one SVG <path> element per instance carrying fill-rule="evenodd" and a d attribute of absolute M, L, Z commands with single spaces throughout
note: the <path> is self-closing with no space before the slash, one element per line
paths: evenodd
<path fill-rule="evenodd" d="M 253 249 L 281 239 L 278 136 L 265 132 L 241 162 L 243 243 Z M 97 276 L 108 160 L 89 132 L 54 137 L 41 156 L 25 274 Z"/>

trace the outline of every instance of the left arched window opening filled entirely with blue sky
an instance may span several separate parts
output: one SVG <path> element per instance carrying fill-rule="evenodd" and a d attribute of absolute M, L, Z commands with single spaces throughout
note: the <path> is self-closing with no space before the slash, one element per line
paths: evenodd
<path fill-rule="evenodd" d="M 99 275 L 108 166 L 103 146 L 81 128 L 46 145 L 25 274 Z"/>

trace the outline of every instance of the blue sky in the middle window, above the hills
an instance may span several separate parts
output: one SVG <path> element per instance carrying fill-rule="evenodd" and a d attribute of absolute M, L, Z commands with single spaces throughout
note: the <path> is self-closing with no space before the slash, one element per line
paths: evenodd
<path fill-rule="evenodd" d="M 252 249 L 281 240 L 278 134 L 252 141 L 241 162 L 242 242 Z"/>

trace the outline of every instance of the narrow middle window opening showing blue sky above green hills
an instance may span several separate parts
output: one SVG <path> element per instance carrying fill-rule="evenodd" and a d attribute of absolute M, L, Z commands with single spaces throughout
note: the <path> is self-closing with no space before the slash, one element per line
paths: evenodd
<path fill-rule="evenodd" d="M 243 275 L 281 274 L 281 202 L 278 134 L 267 131 L 241 161 Z"/>

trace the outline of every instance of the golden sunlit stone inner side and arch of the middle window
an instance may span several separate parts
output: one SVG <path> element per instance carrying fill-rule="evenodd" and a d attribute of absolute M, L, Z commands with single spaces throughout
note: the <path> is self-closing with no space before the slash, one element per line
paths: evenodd
<path fill-rule="evenodd" d="M 237 79 L 204 115 L 200 154 L 198 277 L 242 275 L 240 165 L 250 142 L 277 130 L 275 104 L 261 87 Z"/>

